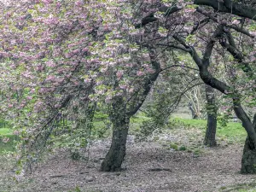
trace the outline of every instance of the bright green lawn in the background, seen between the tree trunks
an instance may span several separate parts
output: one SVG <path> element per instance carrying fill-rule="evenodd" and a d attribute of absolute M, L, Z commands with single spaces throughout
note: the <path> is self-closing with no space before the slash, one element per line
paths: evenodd
<path fill-rule="evenodd" d="M 140 131 L 140 125 L 144 120 L 148 120 L 147 117 L 137 116 L 131 118 L 131 134 L 135 134 Z M 196 128 L 204 132 L 207 127 L 207 120 L 203 119 L 181 119 L 181 118 L 172 118 L 170 120 L 171 129 L 184 127 L 186 129 Z M 96 129 L 96 134 L 99 134 L 100 137 L 108 137 L 111 135 L 111 129 L 105 128 L 103 121 L 94 122 Z M 221 140 L 228 140 L 230 143 L 244 143 L 247 136 L 246 131 L 241 126 L 241 123 L 229 122 L 227 126 L 218 125 L 217 137 Z M 3 137 L 9 137 L 8 143 L 3 143 Z M 15 136 L 12 135 L 12 131 L 8 128 L 0 128 L 0 154 L 3 154 L 4 151 L 13 151 L 15 144 L 13 141 Z"/>

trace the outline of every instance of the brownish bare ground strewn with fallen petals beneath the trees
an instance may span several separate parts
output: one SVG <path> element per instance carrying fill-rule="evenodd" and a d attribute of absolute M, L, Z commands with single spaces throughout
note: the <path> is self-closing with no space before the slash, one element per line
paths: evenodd
<path fill-rule="evenodd" d="M 67 151 L 58 151 L 16 185 L 12 179 L 15 174 L 8 166 L 1 167 L 0 191 L 236 191 L 236 186 L 255 183 L 255 175 L 239 173 L 241 144 L 221 143 L 217 148 L 201 148 L 201 153 L 195 154 L 169 148 L 168 142 L 181 140 L 177 136 L 140 143 L 130 137 L 122 172 L 98 171 L 110 145 L 108 139 L 93 143 L 86 161 L 71 160 Z"/>

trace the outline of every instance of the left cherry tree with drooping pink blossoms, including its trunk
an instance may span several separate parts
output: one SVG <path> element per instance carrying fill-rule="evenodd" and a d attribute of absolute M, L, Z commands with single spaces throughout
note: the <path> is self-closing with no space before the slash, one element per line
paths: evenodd
<path fill-rule="evenodd" d="M 160 72 L 154 46 L 140 44 L 143 30 L 131 22 L 132 6 L 36 0 L 3 8 L 2 79 L 12 103 L 4 109 L 22 130 L 22 160 L 38 160 L 62 122 L 61 133 L 86 145 L 88 139 L 78 138 L 90 134 L 94 108 L 104 104 L 113 141 L 101 169 L 120 169 L 129 119 Z"/>

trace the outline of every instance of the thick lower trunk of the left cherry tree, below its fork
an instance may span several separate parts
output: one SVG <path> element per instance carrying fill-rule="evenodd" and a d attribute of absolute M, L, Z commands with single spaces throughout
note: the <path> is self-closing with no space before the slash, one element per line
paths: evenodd
<path fill-rule="evenodd" d="M 102 172 L 117 172 L 125 159 L 125 145 L 129 130 L 129 118 L 113 122 L 113 136 L 108 154 L 102 161 Z"/>

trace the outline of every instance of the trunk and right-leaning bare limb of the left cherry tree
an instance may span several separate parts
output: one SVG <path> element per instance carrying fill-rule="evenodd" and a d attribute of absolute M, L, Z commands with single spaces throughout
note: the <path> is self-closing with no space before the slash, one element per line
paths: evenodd
<path fill-rule="evenodd" d="M 111 147 L 108 150 L 108 154 L 102 161 L 101 171 L 102 172 L 116 172 L 121 170 L 121 165 L 125 158 L 125 146 L 126 139 L 128 136 L 129 123 L 132 115 L 137 113 L 138 109 L 141 108 L 143 102 L 148 96 L 151 86 L 157 79 L 160 73 L 160 63 L 156 61 L 156 54 L 154 49 L 148 48 L 151 65 L 155 72 L 151 74 L 148 79 L 143 82 L 141 92 L 137 93 L 137 96 L 133 96 L 127 104 L 120 97 L 112 105 L 112 112 L 110 112 L 110 118 L 113 123 L 113 136 Z"/>

